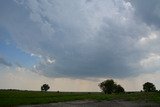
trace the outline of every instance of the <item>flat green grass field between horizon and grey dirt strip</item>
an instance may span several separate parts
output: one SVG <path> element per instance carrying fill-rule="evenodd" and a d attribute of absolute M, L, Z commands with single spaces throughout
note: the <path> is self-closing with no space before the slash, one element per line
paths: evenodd
<path fill-rule="evenodd" d="M 127 100 L 147 101 L 160 104 L 160 93 L 124 93 L 105 95 L 103 93 L 76 93 L 76 92 L 40 92 L 40 91 L 18 91 L 0 90 L 0 107 L 54 103 L 74 100 Z"/>

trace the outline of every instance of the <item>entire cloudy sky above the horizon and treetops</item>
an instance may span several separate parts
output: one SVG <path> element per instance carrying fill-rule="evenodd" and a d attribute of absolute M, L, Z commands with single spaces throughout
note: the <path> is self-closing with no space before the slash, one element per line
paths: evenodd
<path fill-rule="evenodd" d="M 159 0 L 1 0 L 0 89 L 160 90 Z"/>

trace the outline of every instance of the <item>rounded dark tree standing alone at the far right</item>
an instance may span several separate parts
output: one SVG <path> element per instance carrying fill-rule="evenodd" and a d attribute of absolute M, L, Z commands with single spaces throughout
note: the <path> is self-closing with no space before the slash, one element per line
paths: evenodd
<path fill-rule="evenodd" d="M 143 84 L 143 90 L 145 92 L 155 92 L 156 91 L 156 87 L 153 83 L 150 82 L 146 82 L 145 84 Z"/>

